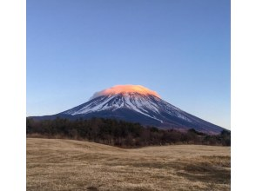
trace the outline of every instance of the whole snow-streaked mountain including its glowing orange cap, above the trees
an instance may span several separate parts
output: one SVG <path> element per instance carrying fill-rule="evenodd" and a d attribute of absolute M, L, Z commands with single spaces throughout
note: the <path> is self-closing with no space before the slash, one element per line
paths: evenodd
<path fill-rule="evenodd" d="M 219 134 L 224 128 L 206 122 L 199 117 L 162 100 L 159 95 L 143 86 L 119 85 L 104 89 L 91 100 L 57 115 L 34 116 L 37 120 L 64 117 L 89 119 L 91 117 L 115 118 L 127 122 L 139 122 L 158 128 L 195 130 L 207 134 Z"/>

